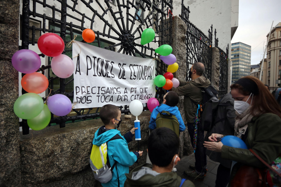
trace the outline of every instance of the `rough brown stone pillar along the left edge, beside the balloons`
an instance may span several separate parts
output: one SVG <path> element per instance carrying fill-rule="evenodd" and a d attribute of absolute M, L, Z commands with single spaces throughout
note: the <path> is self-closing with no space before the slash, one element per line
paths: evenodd
<path fill-rule="evenodd" d="M 0 12 L 0 186 L 20 186 L 19 118 L 13 111 L 18 72 L 11 62 L 19 43 L 19 0 L 1 1 Z"/>

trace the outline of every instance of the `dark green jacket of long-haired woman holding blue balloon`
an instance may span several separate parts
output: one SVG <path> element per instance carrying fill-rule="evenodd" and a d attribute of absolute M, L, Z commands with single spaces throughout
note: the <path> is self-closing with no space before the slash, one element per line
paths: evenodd
<path fill-rule="evenodd" d="M 253 117 L 248 124 L 248 136 L 245 143 L 248 149 L 253 149 L 264 161 L 270 164 L 281 153 L 281 119 L 279 116 L 266 113 Z M 232 169 L 231 178 L 241 164 L 267 168 L 248 149 L 222 146 L 221 157 L 238 162 Z"/>

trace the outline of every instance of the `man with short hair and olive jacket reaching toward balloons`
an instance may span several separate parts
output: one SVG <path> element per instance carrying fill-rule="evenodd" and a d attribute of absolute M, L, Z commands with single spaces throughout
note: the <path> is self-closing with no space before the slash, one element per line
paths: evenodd
<path fill-rule="evenodd" d="M 201 62 L 194 63 L 189 71 L 190 82 L 180 81 L 180 86 L 173 88 L 172 91 L 179 96 L 184 95 L 184 109 L 185 119 L 187 122 L 188 133 L 190 135 L 191 144 L 193 145 L 194 138 L 194 119 L 197 112 L 198 104 L 203 101 L 203 88 L 207 88 L 211 82 L 208 78 L 203 76 L 205 66 Z M 195 150 L 195 165 L 189 167 L 193 171 L 185 171 L 184 174 L 190 178 L 203 180 L 206 173 L 206 154 L 203 146 L 204 143 L 204 130 L 198 128 L 197 147 Z"/>

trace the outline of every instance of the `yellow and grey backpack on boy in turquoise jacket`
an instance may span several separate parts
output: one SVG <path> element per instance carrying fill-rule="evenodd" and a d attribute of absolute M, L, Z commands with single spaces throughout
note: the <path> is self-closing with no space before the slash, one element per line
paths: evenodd
<path fill-rule="evenodd" d="M 115 139 L 122 139 L 122 137 L 116 134 L 108 141 Z M 101 146 L 93 144 L 90 156 L 90 166 L 94 173 L 94 177 L 101 183 L 107 183 L 112 179 L 112 171 L 116 165 L 115 162 L 112 167 L 110 167 L 109 161 L 107 162 L 107 142 L 101 144 Z"/>

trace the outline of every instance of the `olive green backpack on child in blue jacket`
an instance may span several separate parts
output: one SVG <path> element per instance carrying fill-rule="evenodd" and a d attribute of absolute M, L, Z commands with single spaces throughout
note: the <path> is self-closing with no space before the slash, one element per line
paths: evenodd
<path fill-rule="evenodd" d="M 165 115 L 167 114 L 167 115 Z M 180 136 L 180 123 L 175 115 L 170 114 L 165 110 L 159 112 L 156 116 L 156 128 L 167 127 L 172 129 L 178 136 Z"/>

